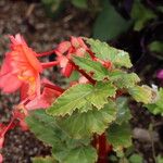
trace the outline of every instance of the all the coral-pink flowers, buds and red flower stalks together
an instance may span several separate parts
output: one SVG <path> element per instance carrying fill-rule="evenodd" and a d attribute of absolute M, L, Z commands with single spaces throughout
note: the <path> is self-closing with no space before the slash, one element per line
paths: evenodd
<path fill-rule="evenodd" d="M 0 88 L 4 93 L 20 91 L 20 103 L 13 108 L 10 123 L 0 124 L 0 149 L 3 147 L 4 136 L 9 129 L 17 125 L 24 130 L 28 129 L 25 117 L 30 110 L 47 109 L 64 91 L 63 88 L 41 77 L 43 70 L 59 65 L 65 77 L 70 77 L 73 71 L 78 71 L 83 76 L 76 83 L 95 84 L 92 74 L 79 70 L 71 60 L 72 55 L 89 54 L 93 61 L 100 62 L 108 68 L 111 67 L 111 63 L 105 63 L 93 55 L 82 37 L 71 37 L 70 41 L 63 41 L 57 49 L 43 53 L 37 53 L 29 48 L 20 34 L 15 37 L 10 36 L 10 40 L 11 50 L 5 53 L 0 70 Z M 57 61 L 41 63 L 38 59 L 50 54 L 55 54 Z M 0 162 L 2 162 L 1 154 Z"/>

